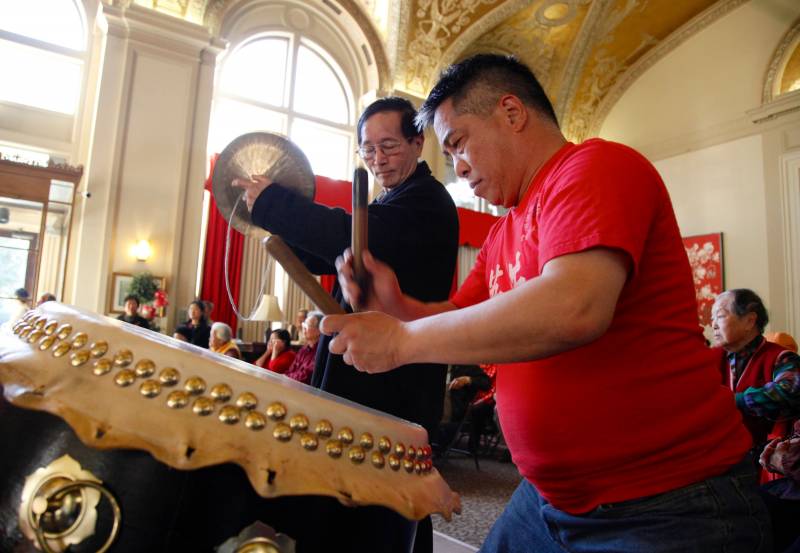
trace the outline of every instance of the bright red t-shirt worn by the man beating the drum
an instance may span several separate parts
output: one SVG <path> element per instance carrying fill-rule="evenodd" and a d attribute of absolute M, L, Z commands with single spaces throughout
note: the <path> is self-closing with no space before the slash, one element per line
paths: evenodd
<path fill-rule="evenodd" d="M 571 513 L 721 474 L 750 447 L 733 395 L 720 383 L 720 354 L 703 341 L 667 190 L 626 146 L 594 139 L 562 147 L 492 227 L 452 302 L 479 303 L 536 278 L 555 257 L 594 247 L 630 259 L 608 331 L 497 372 L 514 462 Z"/>

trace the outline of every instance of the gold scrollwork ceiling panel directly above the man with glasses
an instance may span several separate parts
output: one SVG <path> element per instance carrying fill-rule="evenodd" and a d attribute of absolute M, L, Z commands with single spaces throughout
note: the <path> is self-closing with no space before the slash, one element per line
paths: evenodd
<path fill-rule="evenodd" d="M 417 26 L 408 45 L 405 65 L 405 89 L 424 94 L 442 53 L 454 35 L 473 20 L 475 11 L 497 0 L 419 0 Z"/>

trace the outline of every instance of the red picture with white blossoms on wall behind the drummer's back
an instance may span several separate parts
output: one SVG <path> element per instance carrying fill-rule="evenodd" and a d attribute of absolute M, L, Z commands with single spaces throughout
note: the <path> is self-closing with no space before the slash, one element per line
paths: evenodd
<path fill-rule="evenodd" d="M 725 268 L 722 254 L 722 233 L 698 234 L 683 238 L 689 257 L 697 300 L 697 315 L 704 327 L 711 325 L 714 298 L 725 290 Z"/>

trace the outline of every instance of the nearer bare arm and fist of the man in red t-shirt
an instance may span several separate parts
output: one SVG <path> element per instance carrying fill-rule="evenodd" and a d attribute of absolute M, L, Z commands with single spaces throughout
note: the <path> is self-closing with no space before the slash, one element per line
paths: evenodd
<path fill-rule="evenodd" d="M 629 265 L 622 252 L 588 250 L 555 258 L 539 277 L 464 309 L 408 322 L 375 312 L 331 316 L 322 329 L 339 333 L 330 344 L 333 353 L 368 372 L 419 362 L 539 359 L 606 332 Z"/>

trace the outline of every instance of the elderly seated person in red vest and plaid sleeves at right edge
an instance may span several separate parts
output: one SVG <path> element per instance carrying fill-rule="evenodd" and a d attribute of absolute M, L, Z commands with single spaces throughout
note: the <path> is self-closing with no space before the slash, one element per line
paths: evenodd
<path fill-rule="evenodd" d="M 768 439 L 787 436 L 791 419 L 800 414 L 800 357 L 764 339 L 769 317 L 752 290 L 723 292 L 711 313 L 714 345 L 727 352 L 720 367 L 722 380 L 735 393 L 736 406 L 760 451 Z M 768 479 L 765 473 L 762 481 Z"/>

